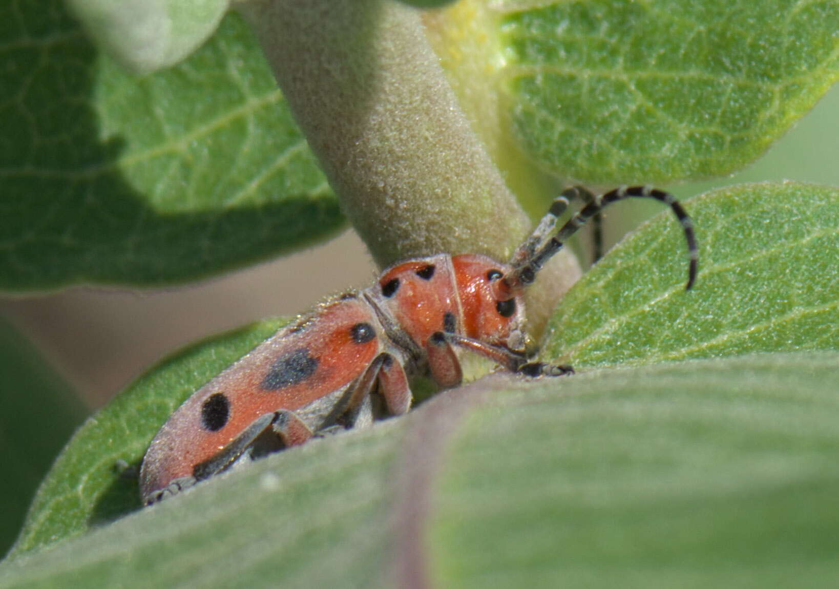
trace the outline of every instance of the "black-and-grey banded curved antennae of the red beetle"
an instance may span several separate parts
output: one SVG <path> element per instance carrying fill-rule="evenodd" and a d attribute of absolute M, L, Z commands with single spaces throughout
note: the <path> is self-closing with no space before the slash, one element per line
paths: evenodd
<path fill-rule="evenodd" d="M 567 196 L 579 195 L 584 193 L 584 191 L 588 192 L 585 188 L 577 187 L 564 190 L 562 195 L 560 195 L 554 203 L 560 201 L 562 198 L 565 198 L 565 201 L 567 202 Z M 542 218 L 542 221 L 539 222 L 539 226 L 536 227 L 530 237 L 524 241 L 522 246 L 513 255 L 513 261 L 511 263 L 513 271 L 508 273 L 507 276 L 504 276 L 504 283 L 508 284 L 510 288 L 515 288 L 519 285 L 527 286 L 528 284 L 531 284 L 536 279 L 536 273 L 539 272 L 539 269 L 541 269 L 555 253 L 562 249 L 568 238 L 574 235 L 580 227 L 585 225 L 586 221 L 588 221 L 592 216 L 596 216 L 597 213 L 602 211 L 604 207 L 611 205 L 613 202 L 623 201 L 623 199 L 629 197 L 651 198 L 656 201 L 661 201 L 665 205 L 670 206 L 670 209 L 673 211 L 676 218 L 679 219 L 682 229 L 685 232 L 688 255 L 690 256 L 688 280 L 687 285 L 685 286 L 685 290 L 690 290 L 694 282 L 696 282 L 696 271 L 699 260 L 699 252 L 696 248 L 696 234 L 693 231 L 693 222 L 690 220 L 690 216 L 688 216 L 685 212 L 685 209 L 681 206 L 680 202 L 675 199 L 674 195 L 671 195 L 669 192 L 664 192 L 664 190 L 649 188 L 649 186 L 621 186 L 615 190 L 608 191 L 602 196 L 594 196 L 591 201 L 586 204 L 586 206 L 583 206 L 580 211 L 578 211 L 574 216 L 571 216 L 571 219 L 565 222 L 565 225 L 560 227 L 560 230 L 556 232 L 555 236 L 550 237 L 550 239 L 545 242 L 541 248 L 537 249 L 536 246 L 531 245 L 531 242 L 534 240 L 534 237 L 544 236 L 544 233 L 539 233 L 539 231 L 542 229 L 545 220 L 549 216 L 552 216 L 554 208 L 552 205 L 551 211 Z M 555 223 L 556 216 L 553 216 L 553 225 L 551 225 L 550 228 L 553 228 Z M 550 228 L 548 231 L 550 231 Z"/>

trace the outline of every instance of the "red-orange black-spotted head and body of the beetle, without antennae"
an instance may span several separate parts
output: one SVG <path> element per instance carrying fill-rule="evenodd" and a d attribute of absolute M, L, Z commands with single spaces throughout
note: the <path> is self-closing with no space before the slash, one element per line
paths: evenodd
<path fill-rule="evenodd" d="M 352 414 L 367 410 L 363 403 L 374 387 L 388 414 L 402 414 L 410 406 L 410 376 L 427 372 L 444 387 L 460 383 L 451 346 L 430 343 L 430 337 L 446 331 L 506 345 L 511 333 L 520 333 L 520 300 L 512 315 L 502 316 L 495 309 L 503 290 L 499 279 L 507 270 L 475 255 L 409 260 L 386 270 L 373 287 L 341 295 L 280 329 L 172 415 L 143 461 L 143 498 L 154 499 L 154 493 L 171 482 L 200 474 L 195 467 L 211 464 L 248 426 L 279 409 L 302 422 L 294 421 L 286 425 L 288 432 L 279 432 L 289 438 L 283 440 L 289 445 L 357 420 Z M 487 279 L 491 271 L 492 279 Z M 377 357 L 388 365 L 362 382 Z M 253 433 L 255 438 L 262 431 Z M 221 462 L 235 458 L 225 456 Z"/>

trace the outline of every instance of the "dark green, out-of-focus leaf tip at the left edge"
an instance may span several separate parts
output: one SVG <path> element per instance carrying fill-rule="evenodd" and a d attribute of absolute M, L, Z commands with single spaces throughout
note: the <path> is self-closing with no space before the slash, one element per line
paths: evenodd
<path fill-rule="evenodd" d="M 81 424 L 76 393 L 37 350 L 0 318 L 0 555 L 23 523 L 32 495 L 55 456 Z"/>

